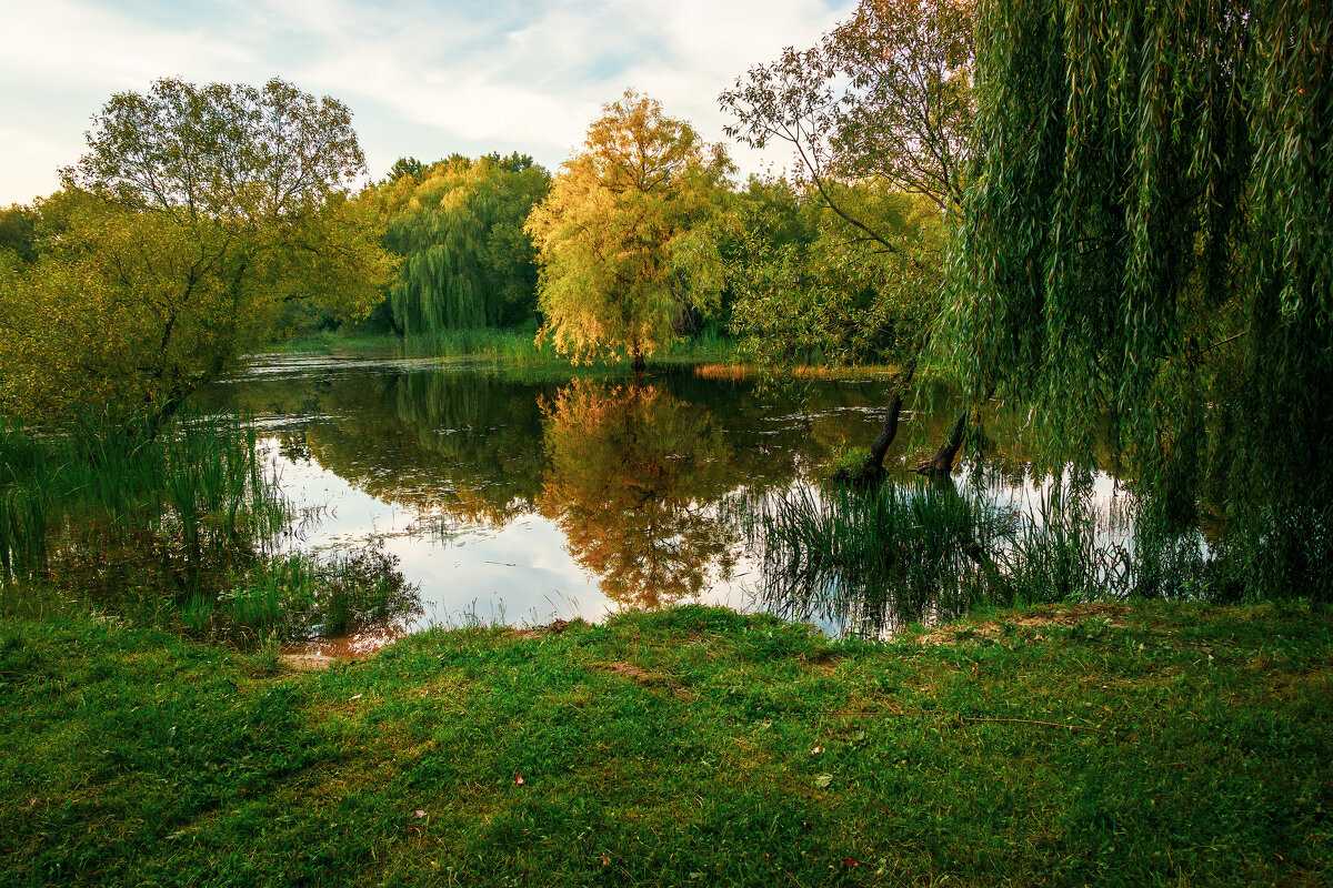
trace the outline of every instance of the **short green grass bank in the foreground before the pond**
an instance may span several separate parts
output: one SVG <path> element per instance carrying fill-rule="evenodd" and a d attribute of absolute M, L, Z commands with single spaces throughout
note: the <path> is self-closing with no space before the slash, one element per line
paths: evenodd
<path fill-rule="evenodd" d="M 1329 884 L 1333 616 L 682 607 L 288 674 L 0 623 L 0 884 Z"/>

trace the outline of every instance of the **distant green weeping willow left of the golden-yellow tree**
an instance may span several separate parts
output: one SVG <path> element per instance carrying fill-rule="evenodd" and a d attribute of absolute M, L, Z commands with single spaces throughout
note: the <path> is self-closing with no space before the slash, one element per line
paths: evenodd
<path fill-rule="evenodd" d="M 389 216 L 385 245 L 404 257 L 389 292 L 403 334 L 507 326 L 533 312 L 537 266 L 523 230 L 551 189 L 531 157 L 400 161 L 375 196 Z"/>

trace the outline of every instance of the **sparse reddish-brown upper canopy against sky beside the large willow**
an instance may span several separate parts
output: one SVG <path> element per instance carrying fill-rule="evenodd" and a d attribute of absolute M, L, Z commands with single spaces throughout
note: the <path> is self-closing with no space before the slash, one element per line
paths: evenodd
<path fill-rule="evenodd" d="M 941 212 L 962 196 L 972 130 L 970 0 L 862 0 L 809 49 L 788 47 L 718 97 L 728 134 L 788 142 L 797 184 L 886 250 L 901 244 L 838 200 L 837 182 L 877 180 Z"/>

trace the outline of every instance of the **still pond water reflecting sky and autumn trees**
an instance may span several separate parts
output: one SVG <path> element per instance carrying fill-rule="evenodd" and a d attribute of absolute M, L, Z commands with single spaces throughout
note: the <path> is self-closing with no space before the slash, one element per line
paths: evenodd
<path fill-rule="evenodd" d="M 829 459 L 874 438 L 890 391 L 874 377 L 780 387 L 692 369 L 636 381 L 261 355 L 203 406 L 253 417 L 267 435 L 304 515 L 297 545 L 381 546 L 419 586 L 412 614 L 305 644 L 357 652 L 432 624 L 597 622 L 685 600 L 845 631 L 854 608 L 784 600 L 765 582 L 753 515 L 792 493 L 820 495 Z M 890 461 L 912 462 L 950 422 L 948 410 L 904 415 Z M 992 467 L 990 502 L 1040 497 L 1021 463 Z M 1109 477 L 1093 485 L 1114 499 Z"/>

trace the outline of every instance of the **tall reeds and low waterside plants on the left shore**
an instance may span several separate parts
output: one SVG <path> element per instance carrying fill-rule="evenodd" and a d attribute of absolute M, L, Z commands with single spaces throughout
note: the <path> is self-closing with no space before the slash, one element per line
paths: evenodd
<path fill-rule="evenodd" d="M 259 445 L 235 417 L 185 417 L 159 434 L 105 419 L 48 435 L 4 427 L 0 591 L 147 606 L 152 623 L 255 643 L 343 635 L 419 607 L 383 550 L 281 550 L 293 515 Z"/>

